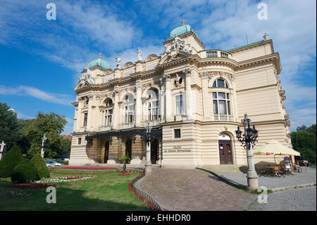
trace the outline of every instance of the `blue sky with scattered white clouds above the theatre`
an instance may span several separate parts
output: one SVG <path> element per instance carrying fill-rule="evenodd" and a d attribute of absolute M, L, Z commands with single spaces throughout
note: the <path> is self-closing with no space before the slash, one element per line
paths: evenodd
<path fill-rule="evenodd" d="M 46 20 L 46 4 L 56 20 Z M 268 6 L 259 20 L 258 4 Z M 181 18 L 206 49 L 231 49 L 263 39 L 280 53 L 282 90 L 291 130 L 316 123 L 316 1 L 44 1 L 0 0 L 0 102 L 18 118 L 37 111 L 66 116 L 73 129 L 73 87 L 89 61 L 102 58 L 115 68 L 163 52 L 163 40 Z"/>

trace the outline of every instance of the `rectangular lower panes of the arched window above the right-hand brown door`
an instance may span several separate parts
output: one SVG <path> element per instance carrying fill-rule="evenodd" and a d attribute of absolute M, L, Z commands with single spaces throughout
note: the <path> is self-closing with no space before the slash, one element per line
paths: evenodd
<path fill-rule="evenodd" d="M 231 114 L 229 93 L 213 92 L 213 113 Z"/>

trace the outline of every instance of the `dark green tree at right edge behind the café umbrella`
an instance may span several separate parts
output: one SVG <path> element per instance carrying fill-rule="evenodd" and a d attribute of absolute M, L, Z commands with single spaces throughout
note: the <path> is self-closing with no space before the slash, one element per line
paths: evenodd
<path fill-rule="evenodd" d="M 291 133 L 294 150 L 300 152 L 304 159 L 316 163 L 316 124 L 310 127 L 300 126 Z"/>

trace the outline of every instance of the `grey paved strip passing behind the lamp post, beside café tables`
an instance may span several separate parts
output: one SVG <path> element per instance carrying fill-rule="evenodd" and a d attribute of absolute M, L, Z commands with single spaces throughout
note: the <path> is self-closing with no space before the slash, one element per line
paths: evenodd
<path fill-rule="evenodd" d="M 235 181 L 244 186 L 247 186 L 247 174 L 238 173 L 216 173 L 228 178 L 231 181 Z M 287 186 L 296 186 L 306 183 L 316 183 L 316 167 L 308 167 L 307 173 L 294 173 L 294 176 L 287 175 L 285 177 L 272 177 L 272 176 L 259 176 L 259 186 L 265 186 L 266 188 L 279 188 Z"/>

